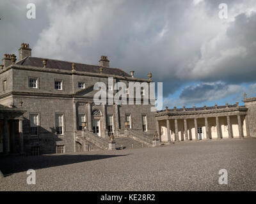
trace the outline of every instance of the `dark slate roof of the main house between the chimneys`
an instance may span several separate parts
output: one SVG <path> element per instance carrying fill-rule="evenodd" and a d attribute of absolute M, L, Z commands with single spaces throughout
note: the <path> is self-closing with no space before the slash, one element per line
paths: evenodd
<path fill-rule="evenodd" d="M 35 67 L 44 67 L 43 65 L 43 59 L 40 57 L 26 57 L 22 59 L 21 61 L 17 62 L 16 64 L 19 65 L 24 65 L 24 66 L 35 66 Z M 60 61 L 56 59 L 46 59 L 47 64 L 46 68 L 50 69 L 63 69 L 63 70 L 72 70 L 72 63 L 73 62 L 68 62 L 68 61 Z M 97 65 L 91 65 L 91 64 L 81 64 L 81 63 L 75 63 L 75 69 L 76 71 L 86 71 L 90 73 L 100 73 L 100 68 L 101 66 Z M 131 77 L 128 73 L 123 71 L 122 69 L 119 68 L 106 68 L 102 67 L 102 73 L 107 74 L 107 75 L 116 75 L 116 76 L 121 76 L 121 77 Z"/>

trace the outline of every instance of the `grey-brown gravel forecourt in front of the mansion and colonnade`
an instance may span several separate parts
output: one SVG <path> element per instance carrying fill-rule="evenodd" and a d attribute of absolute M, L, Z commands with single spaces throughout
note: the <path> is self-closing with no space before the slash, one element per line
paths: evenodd
<path fill-rule="evenodd" d="M 36 184 L 26 171 L 35 169 Z M 219 170 L 228 185 L 218 184 Z M 256 138 L 0 158 L 0 191 L 256 191 Z"/>

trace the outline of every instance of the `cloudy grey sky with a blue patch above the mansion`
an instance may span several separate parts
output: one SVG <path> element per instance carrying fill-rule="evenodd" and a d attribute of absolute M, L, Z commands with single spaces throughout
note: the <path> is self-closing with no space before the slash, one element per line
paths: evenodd
<path fill-rule="evenodd" d="M 169 107 L 256 96 L 255 0 L 3 0 L 0 18 L 2 57 L 18 55 L 22 42 L 36 57 L 98 64 L 108 55 L 111 67 L 136 77 L 152 72 Z"/>

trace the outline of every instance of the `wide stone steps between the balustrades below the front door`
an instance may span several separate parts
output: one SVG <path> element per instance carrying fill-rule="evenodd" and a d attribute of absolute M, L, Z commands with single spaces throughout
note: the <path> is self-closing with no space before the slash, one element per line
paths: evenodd
<path fill-rule="evenodd" d="M 141 143 L 137 140 L 134 140 L 129 137 L 124 138 L 115 138 L 116 142 L 116 149 L 132 149 L 132 148 L 142 148 L 142 147 L 148 147 L 147 144 Z"/>

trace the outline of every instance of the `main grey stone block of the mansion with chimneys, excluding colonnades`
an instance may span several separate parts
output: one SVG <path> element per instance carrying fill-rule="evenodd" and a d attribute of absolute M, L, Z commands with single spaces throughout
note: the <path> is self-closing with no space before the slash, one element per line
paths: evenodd
<path fill-rule="evenodd" d="M 0 104 L 9 106 L 12 103 L 26 111 L 23 115 L 26 154 L 38 151 L 40 154 L 77 152 L 86 149 L 84 146 L 90 143 L 83 143 L 78 139 L 82 135 L 79 124 L 81 115 L 84 115 L 86 128 L 91 132 L 99 131 L 97 135 L 101 138 L 109 137 L 108 115 L 113 119 L 115 137 L 124 136 L 125 115 L 130 115 L 131 128 L 141 133 L 142 116 L 146 115 L 147 130 L 144 134 L 154 134 L 156 122 L 154 112 L 150 112 L 151 105 L 95 105 L 93 102 L 93 96 L 97 92 L 93 90 L 93 85 L 96 82 L 108 85 L 108 78 L 113 77 L 114 84 L 124 82 L 128 85 L 129 82 L 149 83 L 151 78 L 135 78 L 119 68 L 109 68 L 106 56 L 101 57 L 100 66 L 41 59 L 31 57 L 29 45 L 22 43 L 19 57 L 20 61 L 12 61 L 0 71 Z M 6 59 L 3 59 L 3 64 L 6 64 Z M 56 81 L 61 83 L 60 89 L 56 89 Z M 61 133 L 57 130 L 58 117 L 62 121 Z M 31 123 L 35 119 L 37 130 Z M 31 131 L 34 131 L 33 135 Z M 9 149 L 8 152 L 12 150 Z"/>

